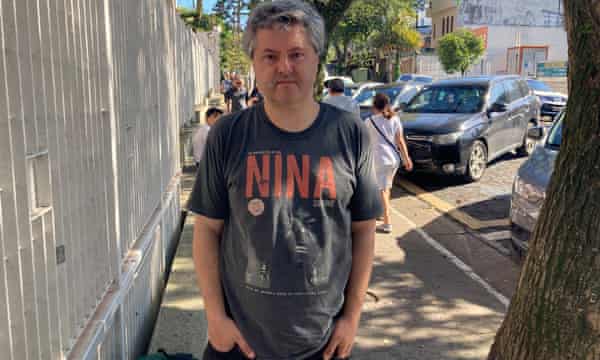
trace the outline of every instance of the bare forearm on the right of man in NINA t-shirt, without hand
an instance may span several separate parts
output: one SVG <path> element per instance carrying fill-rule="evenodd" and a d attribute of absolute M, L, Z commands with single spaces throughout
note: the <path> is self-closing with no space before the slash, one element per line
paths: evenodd
<path fill-rule="evenodd" d="M 344 316 L 355 320 L 360 318 L 365 294 L 369 287 L 375 244 L 375 220 L 362 223 L 364 224 L 361 224 L 360 228 L 352 232 L 352 270 L 346 287 L 344 304 Z"/>

